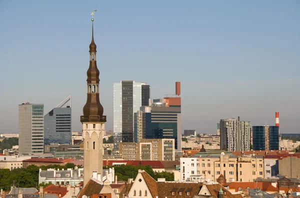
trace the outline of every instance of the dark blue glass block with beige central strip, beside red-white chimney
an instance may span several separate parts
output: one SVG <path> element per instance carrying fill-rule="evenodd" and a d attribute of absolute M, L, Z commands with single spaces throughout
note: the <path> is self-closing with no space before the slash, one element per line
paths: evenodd
<path fill-rule="evenodd" d="M 253 150 L 278 150 L 279 126 L 253 126 Z"/>

